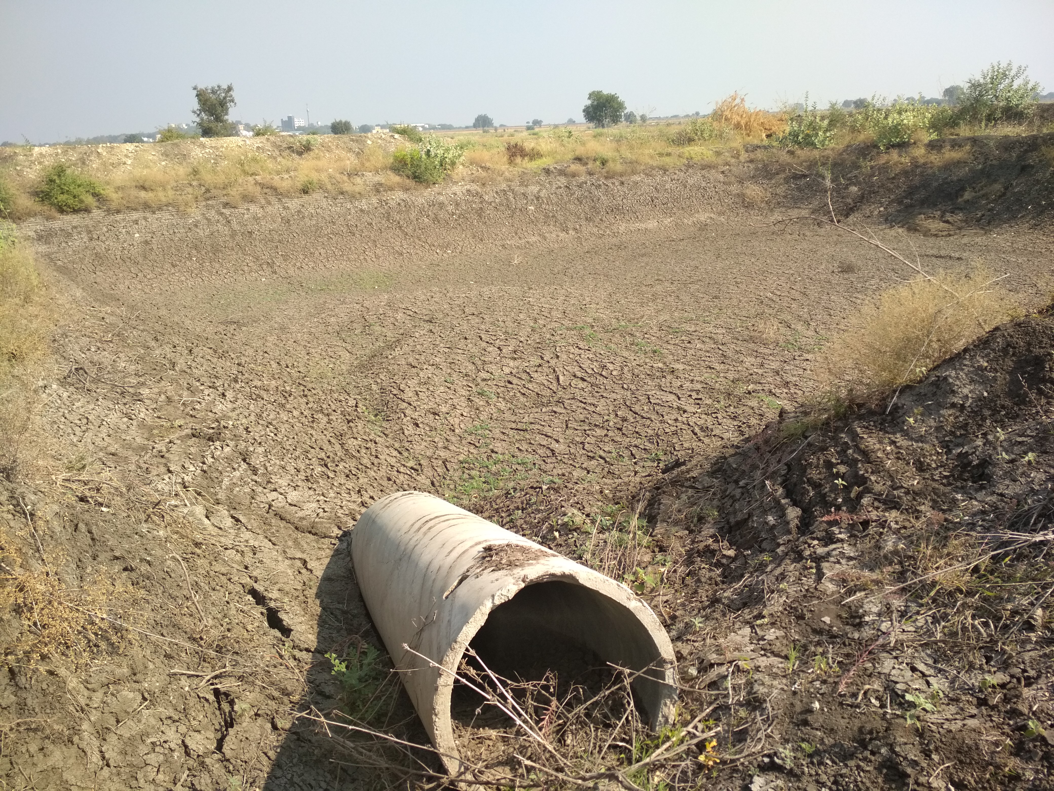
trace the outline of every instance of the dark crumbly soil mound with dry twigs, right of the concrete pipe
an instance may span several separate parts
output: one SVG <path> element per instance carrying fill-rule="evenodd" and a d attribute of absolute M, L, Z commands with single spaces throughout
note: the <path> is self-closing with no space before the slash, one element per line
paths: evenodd
<path fill-rule="evenodd" d="M 667 603 L 684 672 L 724 696 L 711 716 L 756 756 L 719 776 L 1049 787 L 1052 480 L 1047 311 L 892 406 L 819 427 L 783 416 L 653 489 L 646 513 L 688 567 Z"/>

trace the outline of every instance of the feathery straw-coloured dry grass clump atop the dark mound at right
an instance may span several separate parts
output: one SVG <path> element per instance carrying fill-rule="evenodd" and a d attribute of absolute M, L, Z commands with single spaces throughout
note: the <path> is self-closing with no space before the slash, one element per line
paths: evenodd
<path fill-rule="evenodd" d="M 827 348 L 828 375 L 860 393 L 918 382 L 1012 309 L 1009 293 L 983 267 L 913 279 L 864 305 Z"/>

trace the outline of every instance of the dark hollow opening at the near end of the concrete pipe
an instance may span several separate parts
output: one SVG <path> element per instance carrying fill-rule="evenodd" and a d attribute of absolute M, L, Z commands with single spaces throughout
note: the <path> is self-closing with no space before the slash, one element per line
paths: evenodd
<path fill-rule="evenodd" d="M 616 671 L 608 662 L 640 671 L 662 661 L 647 629 L 628 607 L 592 589 L 561 580 L 529 584 L 494 607 L 469 648 L 505 679 L 555 681 L 554 689 L 546 687 L 545 691 L 558 698 L 578 687 L 575 696 L 585 700 L 614 681 Z M 466 662 L 485 678 L 469 655 Z M 526 688 L 521 692 L 527 694 Z M 636 705 L 646 718 L 659 714 L 664 694 L 660 683 L 644 678 L 633 683 Z M 455 730 L 511 725 L 500 710 L 481 708 L 482 702 L 468 687 L 454 684 L 450 714 Z"/>

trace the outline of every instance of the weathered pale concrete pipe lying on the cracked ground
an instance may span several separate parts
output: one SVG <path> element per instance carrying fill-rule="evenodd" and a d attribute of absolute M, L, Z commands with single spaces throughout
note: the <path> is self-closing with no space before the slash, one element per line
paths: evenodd
<path fill-rule="evenodd" d="M 609 577 L 421 491 L 367 508 L 351 555 L 373 623 L 448 771 L 461 768 L 452 673 L 470 643 L 504 675 L 536 671 L 554 645 L 643 671 L 633 692 L 651 728 L 672 721 L 669 637 L 655 613 Z"/>

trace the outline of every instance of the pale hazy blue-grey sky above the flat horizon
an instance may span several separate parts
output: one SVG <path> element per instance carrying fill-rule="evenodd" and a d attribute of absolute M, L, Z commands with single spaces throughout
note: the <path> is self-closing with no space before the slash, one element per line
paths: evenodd
<path fill-rule="evenodd" d="M 253 122 L 513 124 L 594 89 L 658 115 L 936 96 L 1008 59 L 1054 91 L 1054 0 L 0 0 L 0 140 L 189 121 L 195 83 Z"/>

